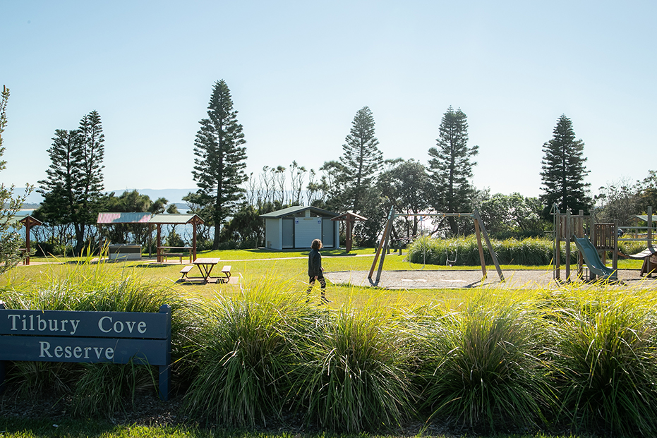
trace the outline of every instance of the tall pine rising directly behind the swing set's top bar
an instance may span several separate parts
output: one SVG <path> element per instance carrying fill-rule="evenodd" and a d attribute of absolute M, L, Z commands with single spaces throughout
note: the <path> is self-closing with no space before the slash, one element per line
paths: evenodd
<path fill-rule="evenodd" d="M 474 187 L 472 162 L 479 153 L 479 147 L 468 147 L 468 117 L 461 109 L 450 106 L 442 116 L 440 137 L 436 146 L 429 150 L 429 171 L 432 187 L 432 204 L 437 212 L 460 213 L 471 210 Z M 457 234 L 459 224 L 456 218 L 449 217 L 452 234 Z"/>

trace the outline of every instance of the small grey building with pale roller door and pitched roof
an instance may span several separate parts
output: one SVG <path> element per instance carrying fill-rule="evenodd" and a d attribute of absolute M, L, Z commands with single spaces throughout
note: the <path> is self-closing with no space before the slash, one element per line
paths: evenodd
<path fill-rule="evenodd" d="M 265 219 L 265 246 L 272 250 L 311 248 L 321 239 L 325 248 L 339 248 L 337 214 L 318 207 L 289 207 L 261 214 Z"/>

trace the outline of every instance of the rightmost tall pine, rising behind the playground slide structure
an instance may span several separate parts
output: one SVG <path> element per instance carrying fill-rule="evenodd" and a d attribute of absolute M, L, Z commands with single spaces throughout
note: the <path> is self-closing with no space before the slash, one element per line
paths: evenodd
<path fill-rule="evenodd" d="M 575 140 L 572 121 L 562 114 L 553 130 L 552 140 L 543 144 L 543 217 L 550 218 L 550 209 L 554 204 L 560 211 L 567 208 L 577 213 L 589 211 L 591 197 L 587 193 L 589 183 L 584 177 L 589 174 L 584 163 L 584 142 Z"/>

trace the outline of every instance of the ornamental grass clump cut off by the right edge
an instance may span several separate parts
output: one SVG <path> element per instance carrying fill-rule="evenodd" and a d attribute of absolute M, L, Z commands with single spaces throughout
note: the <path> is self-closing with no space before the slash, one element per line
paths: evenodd
<path fill-rule="evenodd" d="M 577 298 L 558 315 L 560 419 L 577 431 L 655 436 L 655 292 Z"/>

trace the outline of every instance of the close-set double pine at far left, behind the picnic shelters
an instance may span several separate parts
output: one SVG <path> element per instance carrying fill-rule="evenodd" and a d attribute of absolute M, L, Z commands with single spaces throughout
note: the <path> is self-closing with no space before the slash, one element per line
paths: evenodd
<path fill-rule="evenodd" d="M 76 254 L 82 252 L 88 226 L 95 224 L 104 184 L 104 134 L 100 114 L 91 111 L 78 129 L 55 130 L 48 150 L 47 178 L 37 190 L 44 197 L 35 216 L 50 224 L 72 224 Z"/>

